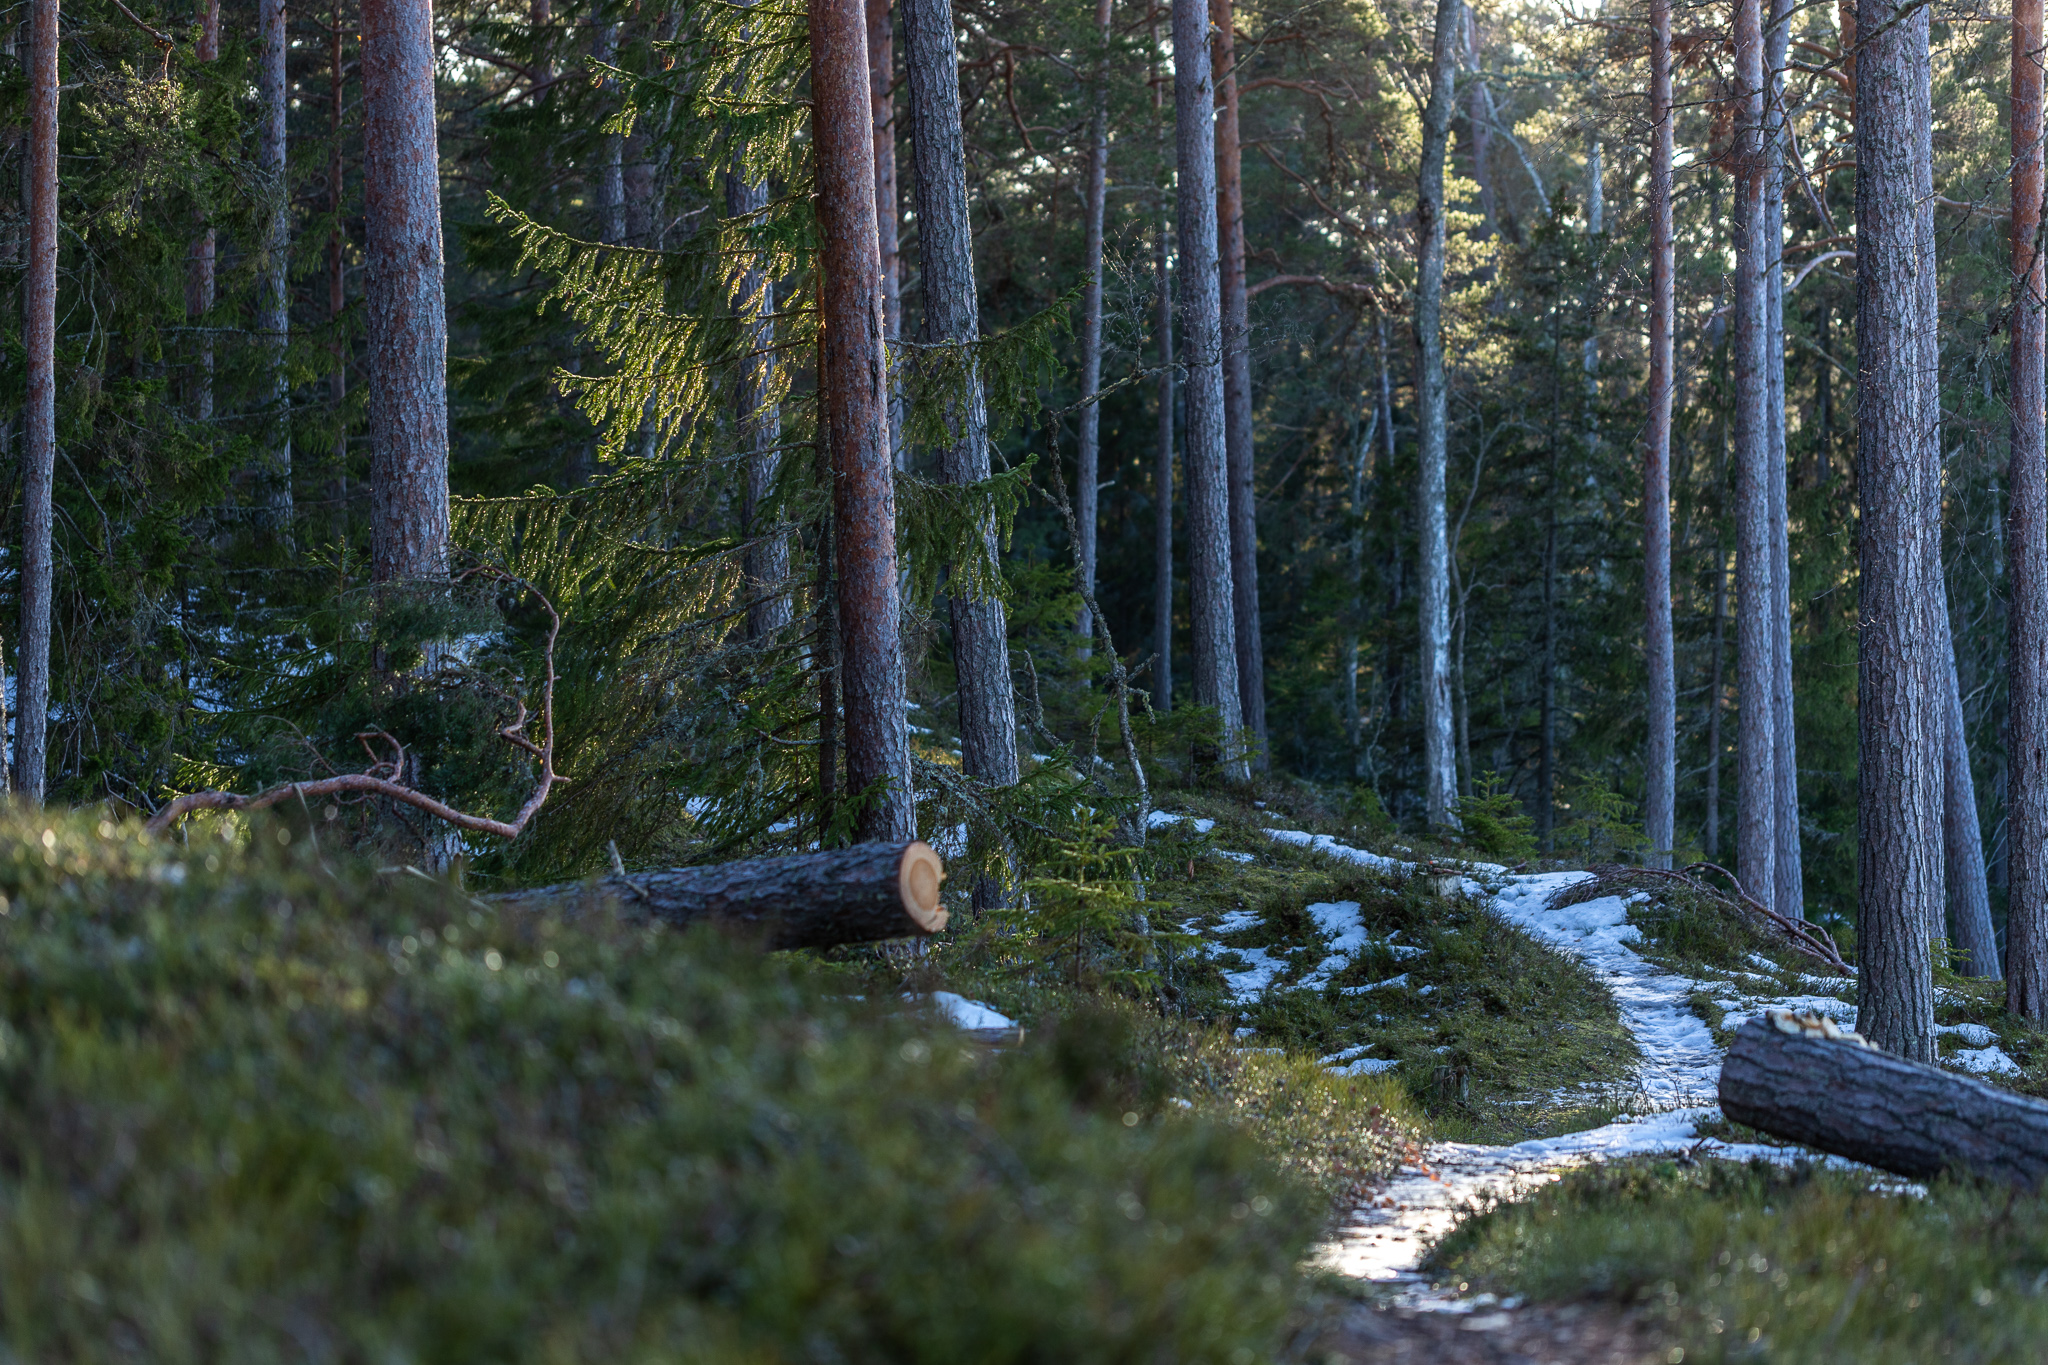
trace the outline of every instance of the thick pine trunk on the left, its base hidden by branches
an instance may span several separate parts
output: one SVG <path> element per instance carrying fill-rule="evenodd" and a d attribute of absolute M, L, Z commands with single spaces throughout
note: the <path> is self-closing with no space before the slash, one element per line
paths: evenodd
<path fill-rule="evenodd" d="M 434 14 L 362 0 L 369 225 L 371 577 L 449 571 L 449 315 L 434 125 Z"/>

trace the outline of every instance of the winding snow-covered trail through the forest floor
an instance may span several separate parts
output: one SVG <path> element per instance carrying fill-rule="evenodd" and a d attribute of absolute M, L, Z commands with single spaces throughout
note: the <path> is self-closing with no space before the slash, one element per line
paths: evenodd
<path fill-rule="evenodd" d="M 1288 843 L 1313 843 L 1333 857 L 1384 866 L 1376 853 L 1350 849 L 1327 837 L 1276 831 Z M 1434 1291 L 1419 1267 L 1432 1242 L 1442 1238 L 1473 1205 L 1524 1197 L 1565 1171 L 1620 1156 L 1694 1152 L 1743 1160 L 1782 1160 L 1788 1148 L 1729 1144 L 1698 1138 L 1702 1121 L 1718 1119 L 1714 1091 L 1722 1048 L 1706 1023 L 1688 1007 L 1688 997 L 1708 990 L 1726 1011 L 1724 1023 L 1739 1027 L 1763 1009 L 1804 1009 L 1829 1013 L 1849 1025 L 1855 1007 L 1827 995 L 1847 978 L 1808 976 L 1812 995 L 1749 995 L 1739 980 L 1694 980 L 1653 966 L 1630 943 L 1640 933 L 1628 923 L 1624 896 L 1602 896 L 1552 909 L 1550 898 L 1591 878 L 1589 872 L 1544 872 L 1507 876 L 1505 870 L 1477 868 L 1464 892 L 1483 898 L 1495 913 L 1532 937 L 1579 958 L 1614 993 L 1622 1023 L 1642 1052 L 1636 1093 L 1626 1097 L 1628 1117 L 1561 1138 L 1485 1146 L 1434 1142 L 1421 1162 L 1403 1166 L 1374 1197 L 1352 1212 L 1337 1234 L 1319 1250 L 1319 1265 L 1341 1275 L 1401 1287 L 1415 1304 L 1460 1306 L 1456 1295 Z M 1755 976 L 1776 988 L 1763 976 Z M 1466 1308 L 1466 1306 L 1460 1306 Z"/>

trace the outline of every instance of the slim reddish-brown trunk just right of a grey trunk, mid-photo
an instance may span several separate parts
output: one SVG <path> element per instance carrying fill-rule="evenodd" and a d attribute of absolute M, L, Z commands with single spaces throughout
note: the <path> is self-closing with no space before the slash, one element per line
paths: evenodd
<path fill-rule="evenodd" d="M 1260 630 L 1260 503 L 1251 438 L 1251 315 L 1245 297 L 1245 174 L 1237 135 L 1233 0 L 1208 0 L 1208 61 L 1217 80 L 1217 266 L 1223 303 L 1223 434 L 1231 477 L 1231 622 L 1237 698 L 1253 761 L 1266 767 L 1266 647 Z"/>

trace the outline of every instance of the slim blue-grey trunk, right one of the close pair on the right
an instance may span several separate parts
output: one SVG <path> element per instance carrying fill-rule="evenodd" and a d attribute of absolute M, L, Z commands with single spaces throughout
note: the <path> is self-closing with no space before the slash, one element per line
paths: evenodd
<path fill-rule="evenodd" d="M 1772 909 L 1806 917 L 1798 847 L 1798 733 L 1792 726 L 1792 520 L 1786 489 L 1786 121 L 1784 63 L 1792 0 L 1769 0 L 1763 31 L 1763 375 L 1772 534 Z"/>

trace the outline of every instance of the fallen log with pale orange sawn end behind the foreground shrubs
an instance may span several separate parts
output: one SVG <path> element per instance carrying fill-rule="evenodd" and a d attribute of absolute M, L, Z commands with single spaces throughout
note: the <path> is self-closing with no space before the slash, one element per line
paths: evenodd
<path fill-rule="evenodd" d="M 946 927 L 938 902 L 942 880 L 944 862 L 930 843 L 911 839 L 614 874 L 498 898 L 563 915 L 610 902 L 678 929 L 698 923 L 735 929 L 764 948 L 831 948 L 938 933 Z"/>

